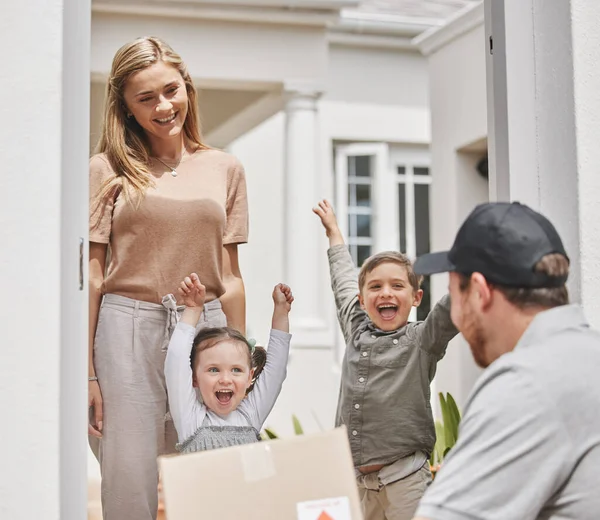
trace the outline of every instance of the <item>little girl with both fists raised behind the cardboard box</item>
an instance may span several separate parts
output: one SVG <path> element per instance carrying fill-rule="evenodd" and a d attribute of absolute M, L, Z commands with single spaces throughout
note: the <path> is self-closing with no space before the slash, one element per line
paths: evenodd
<path fill-rule="evenodd" d="M 291 338 L 288 313 L 294 301 L 290 288 L 279 284 L 273 290 L 266 363 L 264 352 L 251 346 L 235 329 L 205 328 L 194 337 L 206 289 L 192 273 L 178 291 L 186 308 L 169 343 L 165 378 L 179 451 L 191 453 L 258 441 L 286 376 Z"/>

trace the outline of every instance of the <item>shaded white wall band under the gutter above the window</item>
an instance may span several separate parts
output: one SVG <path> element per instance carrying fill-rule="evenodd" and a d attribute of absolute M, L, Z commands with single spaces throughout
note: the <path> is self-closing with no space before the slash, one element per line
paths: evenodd
<path fill-rule="evenodd" d="M 326 101 L 427 108 L 427 60 L 418 52 L 331 45 Z"/>

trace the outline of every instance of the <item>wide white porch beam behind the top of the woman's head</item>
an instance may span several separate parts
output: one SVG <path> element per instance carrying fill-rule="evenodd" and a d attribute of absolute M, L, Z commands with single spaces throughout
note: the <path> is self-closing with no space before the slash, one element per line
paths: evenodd
<path fill-rule="evenodd" d="M 320 80 L 327 67 L 323 27 L 94 13 L 92 71 L 107 74 L 116 50 L 145 35 L 166 40 L 204 82 Z"/>

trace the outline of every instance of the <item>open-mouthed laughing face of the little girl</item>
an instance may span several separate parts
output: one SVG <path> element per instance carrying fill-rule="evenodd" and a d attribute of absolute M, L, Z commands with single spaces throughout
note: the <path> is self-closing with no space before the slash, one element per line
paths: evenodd
<path fill-rule="evenodd" d="M 226 416 L 246 396 L 252 376 L 247 345 L 226 339 L 199 353 L 194 386 L 200 389 L 207 408 Z"/>

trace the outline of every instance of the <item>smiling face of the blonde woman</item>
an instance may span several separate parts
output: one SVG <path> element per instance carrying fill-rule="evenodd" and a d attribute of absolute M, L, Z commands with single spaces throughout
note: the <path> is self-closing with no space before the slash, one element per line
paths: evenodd
<path fill-rule="evenodd" d="M 132 74 L 125 84 L 124 97 L 127 110 L 151 143 L 181 133 L 188 96 L 181 74 L 172 65 L 158 61 Z"/>

